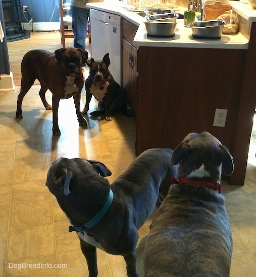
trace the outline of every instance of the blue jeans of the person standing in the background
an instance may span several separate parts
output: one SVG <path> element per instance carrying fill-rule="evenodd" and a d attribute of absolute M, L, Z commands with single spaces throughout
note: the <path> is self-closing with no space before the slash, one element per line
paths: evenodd
<path fill-rule="evenodd" d="M 74 47 L 85 50 L 85 38 L 87 33 L 87 22 L 89 9 L 70 7 L 72 16 L 72 30 L 74 33 Z"/>

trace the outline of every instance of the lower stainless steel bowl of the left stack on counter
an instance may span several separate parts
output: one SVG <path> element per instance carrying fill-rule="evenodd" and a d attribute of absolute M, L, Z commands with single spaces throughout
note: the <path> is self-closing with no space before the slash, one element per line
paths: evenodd
<path fill-rule="evenodd" d="M 146 33 L 149 37 L 173 37 L 177 22 L 145 21 Z"/>

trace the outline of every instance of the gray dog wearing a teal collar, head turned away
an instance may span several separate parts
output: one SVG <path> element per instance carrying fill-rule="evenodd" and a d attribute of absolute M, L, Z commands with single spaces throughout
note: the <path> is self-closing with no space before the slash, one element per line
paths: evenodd
<path fill-rule="evenodd" d="M 76 231 L 89 276 L 97 276 L 96 247 L 122 255 L 128 277 L 137 277 L 138 229 L 151 215 L 176 176 L 171 149 L 149 149 L 111 185 L 111 171 L 102 163 L 60 158 L 50 167 L 46 186 Z M 159 197 L 159 191 L 163 193 Z"/>

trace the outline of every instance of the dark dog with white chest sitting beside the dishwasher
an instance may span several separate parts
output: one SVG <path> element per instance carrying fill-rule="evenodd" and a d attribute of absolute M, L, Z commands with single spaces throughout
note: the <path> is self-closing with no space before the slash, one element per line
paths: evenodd
<path fill-rule="evenodd" d="M 85 81 L 86 102 L 82 114 L 87 114 L 92 95 L 99 101 L 99 111 L 93 111 L 90 115 L 98 116 L 98 120 L 111 121 L 115 111 L 126 113 L 125 93 L 109 71 L 109 53 L 103 57 L 103 60 L 91 58 L 86 64 L 90 67 L 90 72 Z"/>

